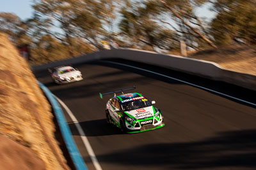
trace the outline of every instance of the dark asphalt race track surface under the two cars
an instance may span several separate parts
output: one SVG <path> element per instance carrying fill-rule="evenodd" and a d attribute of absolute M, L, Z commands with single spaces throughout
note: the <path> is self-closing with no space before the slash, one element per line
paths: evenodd
<path fill-rule="evenodd" d="M 76 67 L 84 80 L 70 84 L 52 83 L 47 70 L 35 76 L 74 113 L 102 169 L 256 169 L 256 109 L 250 104 L 106 62 Z M 256 103 L 255 91 L 168 69 L 143 67 Z M 100 99 L 99 92 L 133 85 L 134 92 L 156 101 L 165 127 L 122 134 L 117 127 L 106 124 L 104 110 L 111 95 Z M 94 169 L 74 123 L 65 116 L 88 169 Z"/>

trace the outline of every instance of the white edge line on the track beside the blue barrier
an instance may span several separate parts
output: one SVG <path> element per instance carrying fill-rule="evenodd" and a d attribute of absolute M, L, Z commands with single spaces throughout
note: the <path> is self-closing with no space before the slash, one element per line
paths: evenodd
<path fill-rule="evenodd" d="M 78 132 L 79 132 L 79 134 L 81 136 L 81 139 L 82 139 L 82 141 L 84 143 L 84 146 L 86 147 L 86 149 L 87 149 L 87 151 L 88 151 L 88 153 L 90 155 L 90 158 L 92 159 L 92 162 L 93 162 L 93 165 L 94 165 L 95 169 L 102 170 L 102 167 L 100 166 L 99 161 L 97 160 L 97 158 L 95 156 L 95 153 L 92 150 L 92 146 L 90 145 L 88 139 L 86 138 L 85 133 L 84 133 L 81 125 L 77 121 L 76 117 L 74 116 L 72 111 L 70 111 L 68 106 L 65 103 L 63 103 L 63 101 L 61 101 L 61 99 L 59 99 L 55 95 L 53 95 L 53 96 L 58 100 L 58 102 L 63 106 L 63 108 L 65 108 L 65 110 L 67 111 L 68 115 L 70 116 L 70 118 L 72 119 L 74 124 L 76 125 L 76 128 L 77 128 L 77 130 L 78 130 Z"/>

